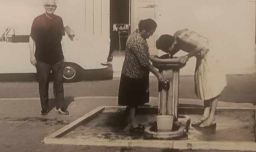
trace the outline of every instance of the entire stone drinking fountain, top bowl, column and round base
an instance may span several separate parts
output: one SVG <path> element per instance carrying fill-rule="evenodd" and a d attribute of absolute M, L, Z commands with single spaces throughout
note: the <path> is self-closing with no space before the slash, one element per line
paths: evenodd
<path fill-rule="evenodd" d="M 152 56 L 150 61 L 167 80 L 165 84 L 158 83 L 158 116 L 172 116 L 173 124 L 167 124 L 172 126 L 171 130 L 160 130 L 160 124 L 151 122 L 144 130 L 144 138 L 172 140 L 184 136 L 190 126 L 190 117 L 178 114 L 178 92 L 180 68 L 186 64 L 179 62 L 178 58 L 170 57 L 169 54 L 160 57 Z"/>

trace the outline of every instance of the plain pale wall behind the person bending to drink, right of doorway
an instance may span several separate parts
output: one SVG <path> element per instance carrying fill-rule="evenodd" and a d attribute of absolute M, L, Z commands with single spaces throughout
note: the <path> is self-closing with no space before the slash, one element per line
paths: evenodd
<path fill-rule="evenodd" d="M 214 42 L 216 57 L 227 74 L 255 68 L 255 3 L 248 0 L 157 0 L 158 37 L 188 28 Z M 180 52 L 177 56 L 184 55 Z M 191 58 L 181 75 L 193 74 Z"/>

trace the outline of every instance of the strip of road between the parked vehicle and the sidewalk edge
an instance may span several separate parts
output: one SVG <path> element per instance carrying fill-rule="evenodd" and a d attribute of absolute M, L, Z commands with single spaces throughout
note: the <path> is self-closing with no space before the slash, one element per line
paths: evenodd
<path fill-rule="evenodd" d="M 119 78 L 107 81 L 88 81 L 64 84 L 65 96 L 118 96 Z M 228 85 L 224 88 L 221 101 L 227 102 L 256 102 L 256 74 L 227 75 Z M 158 82 L 150 77 L 150 96 L 158 96 Z M 52 84 L 50 85 L 50 96 Z M 4 82 L 0 83 L 0 98 L 38 97 L 36 82 Z M 196 99 L 194 94 L 194 77 L 180 76 L 180 98 Z"/>

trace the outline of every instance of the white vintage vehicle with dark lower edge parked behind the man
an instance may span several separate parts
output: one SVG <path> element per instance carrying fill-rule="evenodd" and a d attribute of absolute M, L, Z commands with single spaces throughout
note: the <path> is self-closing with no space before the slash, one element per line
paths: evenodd
<path fill-rule="evenodd" d="M 18 34 L 18 28 L 8 27 L 0 38 L 1 56 L 0 81 L 34 81 L 36 68 L 30 63 L 29 32 Z M 63 37 L 64 82 L 82 80 L 110 80 L 113 78 L 112 65 L 102 66 L 108 56 L 110 40 L 108 37 L 80 36 L 65 27 Z"/>

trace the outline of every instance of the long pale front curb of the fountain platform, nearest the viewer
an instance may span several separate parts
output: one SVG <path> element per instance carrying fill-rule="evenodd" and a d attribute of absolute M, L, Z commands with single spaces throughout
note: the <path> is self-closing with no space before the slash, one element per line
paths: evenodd
<path fill-rule="evenodd" d="M 66 144 L 84 146 L 118 146 L 118 147 L 146 147 L 170 148 L 180 150 L 256 150 L 255 142 L 226 142 L 226 141 L 168 141 L 168 140 L 82 140 L 69 138 L 44 138 L 45 144 Z"/>

